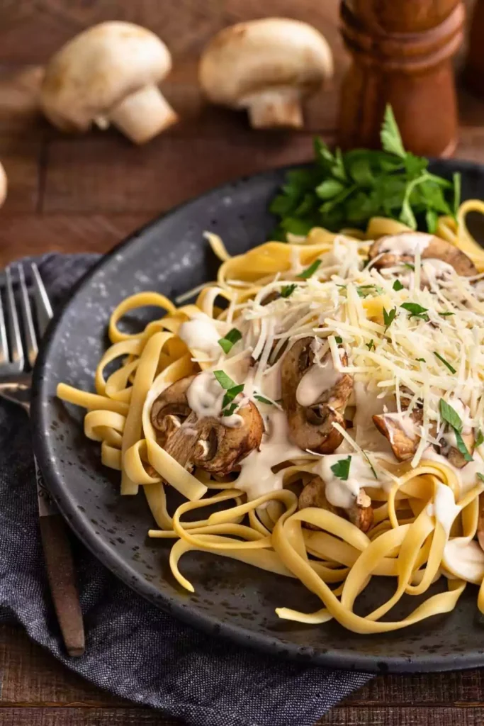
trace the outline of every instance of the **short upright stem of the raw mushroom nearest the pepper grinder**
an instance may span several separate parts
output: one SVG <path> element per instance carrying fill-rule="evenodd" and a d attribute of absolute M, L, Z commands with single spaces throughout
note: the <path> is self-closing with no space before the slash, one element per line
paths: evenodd
<path fill-rule="evenodd" d="M 269 89 L 246 98 L 250 126 L 253 129 L 302 129 L 303 109 L 300 94 L 294 89 Z"/>

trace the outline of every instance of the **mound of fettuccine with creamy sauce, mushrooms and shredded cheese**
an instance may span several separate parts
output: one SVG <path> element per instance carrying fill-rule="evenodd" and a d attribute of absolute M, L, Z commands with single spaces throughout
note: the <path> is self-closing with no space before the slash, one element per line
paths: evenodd
<path fill-rule="evenodd" d="M 186 590 L 182 555 L 202 550 L 321 600 L 312 613 L 275 602 L 284 619 L 387 632 L 451 611 L 467 582 L 484 612 L 484 252 L 469 211 L 484 203 L 435 235 L 374 218 L 366 233 L 316 228 L 234 257 L 208 234 L 221 266 L 195 303 L 146 292 L 113 311 L 95 392 L 57 393 L 87 409 L 121 494 L 143 489 L 149 537 L 173 540 Z M 160 317 L 124 332 L 144 306 Z M 393 595 L 357 614 L 375 576 Z"/>

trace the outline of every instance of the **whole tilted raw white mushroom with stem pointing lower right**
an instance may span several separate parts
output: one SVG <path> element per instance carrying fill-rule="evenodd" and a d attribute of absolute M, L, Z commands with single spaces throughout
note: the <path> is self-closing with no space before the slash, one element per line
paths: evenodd
<path fill-rule="evenodd" d="M 158 89 L 171 55 L 151 30 L 133 23 L 101 23 L 54 54 L 41 88 L 44 113 L 61 131 L 110 123 L 144 144 L 177 121 Z"/>

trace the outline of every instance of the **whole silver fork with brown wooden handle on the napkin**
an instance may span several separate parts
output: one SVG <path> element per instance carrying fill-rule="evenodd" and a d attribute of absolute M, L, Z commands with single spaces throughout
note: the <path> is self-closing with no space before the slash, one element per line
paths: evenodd
<path fill-rule="evenodd" d="M 38 344 L 25 271 L 21 264 L 16 267 L 20 315 L 10 266 L 5 270 L 5 310 L 0 294 L 0 398 L 18 404 L 30 415 L 31 371 L 36 362 Z M 41 338 L 52 318 L 52 307 L 35 263 L 30 264 L 30 272 L 37 329 Z M 20 319 L 25 346 L 22 341 Z M 38 515 L 50 592 L 67 653 L 70 656 L 81 656 L 84 652 L 84 628 L 67 529 L 57 505 L 44 484 L 35 456 L 34 462 Z"/>

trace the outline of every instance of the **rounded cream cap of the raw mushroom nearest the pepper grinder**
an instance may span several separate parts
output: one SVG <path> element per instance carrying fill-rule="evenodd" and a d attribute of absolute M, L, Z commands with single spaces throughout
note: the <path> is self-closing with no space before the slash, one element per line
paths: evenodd
<path fill-rule="evenodd" d="M 316 28 L 267 17 L 221 30 L 202 54 L 199 78 L 210 101 L 243 107 L 247 97 L 271 88 L 311 94 L 332 68 L 331 49 Z"/>

